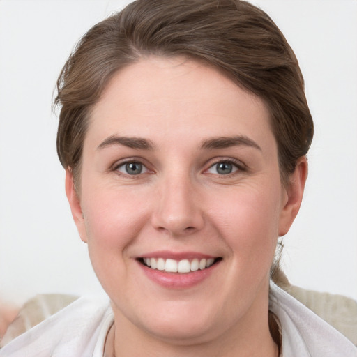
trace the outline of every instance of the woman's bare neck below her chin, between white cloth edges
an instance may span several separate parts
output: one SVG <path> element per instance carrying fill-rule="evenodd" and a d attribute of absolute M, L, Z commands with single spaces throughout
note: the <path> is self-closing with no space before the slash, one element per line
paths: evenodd
<path fill-rule="evenodd" d="M 153 336 L 137 326 L 123 323 L 126 318 L 121 316 L 116 319 L 121 323 L 112 326 L 108 333 L 105 357 L 277 357 L 278 345 L 271 335 L 267 309 L 264 317 L 260 324 L 242 321 L 241 327 L 232 326 L 214 339 L 183 341 Z M 249 316 L 248 320 L 252 318 Z"/>

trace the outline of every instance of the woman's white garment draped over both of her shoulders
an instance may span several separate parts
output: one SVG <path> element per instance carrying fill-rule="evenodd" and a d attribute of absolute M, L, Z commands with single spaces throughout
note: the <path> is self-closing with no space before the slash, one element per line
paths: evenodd
<path fill-rule="evenodd" d="M 271 283 L 271 311 L 280 320 L 283 357 L 357 357 L 357 347 Z M 102 357 L 114 321 L 109 301 L 79 298 L 15 338 L 0 357 Z"/>

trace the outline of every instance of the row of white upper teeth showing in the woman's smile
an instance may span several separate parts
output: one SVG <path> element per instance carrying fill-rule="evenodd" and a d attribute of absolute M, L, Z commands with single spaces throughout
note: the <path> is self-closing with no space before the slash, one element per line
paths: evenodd
<path fill-rule="evenodd" d="M 151 269 L 165 271 L 167 273 L 190 273 L 207 269 L 216 264 L 222 258 L 194 258 L 194 259 L 165 259 L 165 258 L 139 258 L 140 263 Z"/>

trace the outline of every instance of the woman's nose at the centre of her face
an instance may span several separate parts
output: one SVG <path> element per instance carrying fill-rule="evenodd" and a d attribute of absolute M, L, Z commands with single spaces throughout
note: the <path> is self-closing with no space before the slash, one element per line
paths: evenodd
<path fill-rule="evenodd" d="M 204 226 L 197 188 L 189 178 L 167 177 L 158 184 L 158 197 L 152 224 L 170 236 L 188 236 Z"/>

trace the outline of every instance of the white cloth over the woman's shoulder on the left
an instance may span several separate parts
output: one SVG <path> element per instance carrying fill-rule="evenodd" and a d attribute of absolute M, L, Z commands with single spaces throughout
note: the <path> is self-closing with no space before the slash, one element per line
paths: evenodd
<path fill-rule="evenodd" d="M 92 356 L 98 338 L 112 320 L 108 300 L 78 298 L 6 344 L 0 356 Z"/>

